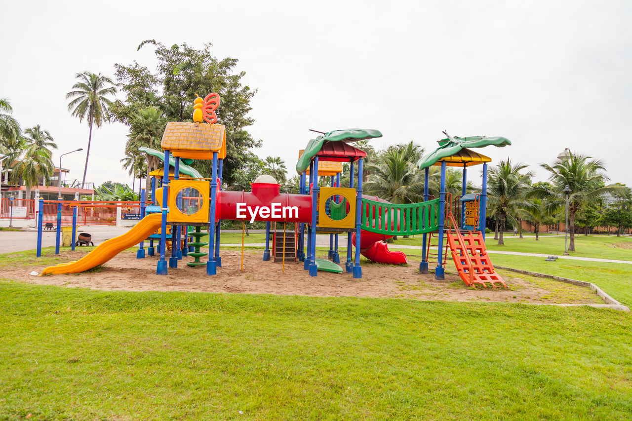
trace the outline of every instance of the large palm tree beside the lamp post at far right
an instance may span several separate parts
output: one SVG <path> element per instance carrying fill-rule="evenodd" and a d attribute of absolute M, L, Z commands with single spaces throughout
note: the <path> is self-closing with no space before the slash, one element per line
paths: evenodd
<path fill-rule="evenodd" d="M 568 223 L 567 229 L 570 231 L 571 241 L 569 242 L 569 252 L 575 251 L 575 214 L 586 206 L 595 203 L 603 198 L 607 193 L 612 195 L 627 195 L 628 192 L 623 185 L 605 185 L 609 180 L 605 176 L 604 161 L 592 159 L 583 154 L 573 154 L 569 151 L 568 158 L 558 158 L 551 166 L 540 164 L 542 168 L 549 171 L 549 181 L 553 185 L 551 189 L 534 188 L 530 192 L 530 197 L 545 198 L 549 202 L 549 207 L 564 209 L 566 205 L 566 195 L 564 189 L 569 186 L 568 193 Z"/>

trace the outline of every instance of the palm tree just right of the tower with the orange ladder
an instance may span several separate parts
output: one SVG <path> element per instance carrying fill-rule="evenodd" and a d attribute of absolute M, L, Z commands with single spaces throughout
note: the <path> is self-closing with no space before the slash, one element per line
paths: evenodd
<path fill-rule="evenodd" d="M 498 166 L 489 170 L 487 179 L 487 200 L 499 224 L 498 244 L 504 245 L 502 233 L 507 219 L 517 223 L 518 209 L 528 207 L 525 193 L 533 177 L 533 171 L 521 174 L 527 166 L 522 162 L 511 164 L 511 160 L 499 162 Z"/>

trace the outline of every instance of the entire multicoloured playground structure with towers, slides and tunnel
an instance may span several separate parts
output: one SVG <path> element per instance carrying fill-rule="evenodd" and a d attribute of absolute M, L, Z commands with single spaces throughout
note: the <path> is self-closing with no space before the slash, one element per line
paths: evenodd
<path fill-rule="evenodd" d="M 270 260 L 272 228 L 273 260 L 283 262 L 283 267 L 286 262 L 303 262 L 310 276 L 317 276 L 319 270 L 343 272 L 338 265 L 339 235 L 343 233 L 347 234 L 344 271 L 356 279 L 362 278 L 360 255 L 383 264 L 406 264 L 406 255 L 389 250 L 384 240 L 421 234 L 420 273 L 428 273 L 429 265 L 436 264 L 435 278 L 444 279 L 449 247 L 458 274 L 468 286 L 506 286 L 495 273 L 485 248 L 487 163 L 491 159 L 470 149 L 510 145 L 506 138 L 458 138 L 446 133 L 439 148 L 418 162 L 425 183 L 424 201 L 416 204 L 391 204 L 362 194 L 363 159 L 367 154 L 352 143 L 382 136 L 380 131 L 363 129 L 335 130 L 310 140 L 300 150 L 296 164 L 300 174 L 298 194 L 281 193 L 281 185 L 265 175 L 253 181 L 250 192 L 228 191 L 222 190 L 226 132 L 223 125 L 217 124 L 215 111 L 219 103 L 220 97 L 215 93 L 195 99 L 193 123 L 167 123 L 161 143 L 164 152 L 141 149 L 160 157 L 165 165 L 149 174 L 152 202 L 144 207 L 143 218 L 134 228 L 105 241 L 76 262 L 47 267 L 42 275 L 86 271 L 137 243 L 137 258 L 142 259 L 144 241 L 149 241 L 147 255 L 159 253 L 156 274 L 166 275 L 169 268 L 177 268 L 178 261 L 190 255 L 194 261 L 188 265 L 205 265 L 207 275 L 212 276 L 222 265 L 220 226 L 226 219 L 265 222 L 263 260 Z M 210 178 L 189 166 L 194 159 L 212 160 Z M 350 169 L 348 187 L 341 186 L 344 162 L 349 163 Z M 482 191 L 467 194 L 467 169 L 477 164 L 483 165 Z M 441 166 L 439 198 L 430 197 L 428 191 L 430 166 Z M 446 193 L 447 166 L 463 170 L 463 192 L 454 200 Z M 319 176 L 329 177 L 331 186 L 319 186 Z M 145 203 L 144 195 L 142 202 Z M 208 242 L 201 241 L 205 235 L 203 227 L 209 228 Z M 317 258 L 317 233 L 329 234 L 327 259 Z M 436 253 L 431 252 L 433 239 Z M 167 266 L 169 242 L 171 256 Z M 202 251 L 207 245 L 208 253 Z M 206 262 L 200 260 L 203 257 Z"/>

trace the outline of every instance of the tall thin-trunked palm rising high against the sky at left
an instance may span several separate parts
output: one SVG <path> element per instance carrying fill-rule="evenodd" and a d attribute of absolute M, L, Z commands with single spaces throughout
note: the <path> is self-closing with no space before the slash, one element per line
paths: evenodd
<path fill-rule="evenodd" d="M 92 142 L 92 125 L 97 125 L 97 128 L 103 125 L 106 121 L 109 121 L 108 108 L 112 105 L 112 101 L 106 97 L 106 95 L 116 94 L 116 87 L 106 86 L 106 83 L 114 84 L 112 79 L 108 76 L 103 76 L 100 73 L 90 73 L 84 71 L 83 73 L 77 73 L 75 78 L 79 82 L 73 85 L 73 90 L 66 94 L 66 99 L 72 99 L 68 104 L 68 111 L 74 117 L 79 118 L 81 123 L 83 119 L 88 120 L 90 125 L 90 134 L 88 135 L 88 150 L 85 154 L 85 167 L 83 168 L 83 180 L 82 186 L 85 183 L 85 174 L 88 171 L 88 157 L 90 157 L 90 142 Z"/>

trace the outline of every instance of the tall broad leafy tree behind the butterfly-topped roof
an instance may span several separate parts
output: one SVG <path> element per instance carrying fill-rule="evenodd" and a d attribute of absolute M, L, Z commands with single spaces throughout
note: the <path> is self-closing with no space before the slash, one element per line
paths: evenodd
<path fill-rule="evenodd" d="M 187 44 L 165 46 L 155 40 L 142 42 L 138 49 L 153 46 L 157 59 L 155 72 L 138 63 L 129 66 L 115 64 L 116 78 L 125 93 L 124 101 L 116 101 L 112 112 L 118 121 L 130 124 L 138 109 L 157 107 L 166 121 L 187 121 L 193 114 L 195 94 L 217 92 L 221 105 L 218 122 L 226 126 L 228 155 L 224 160 L 223 177 L 228 185 L 241 185 L 243 175 L 258 166 L 258 157 L 250 149 L 259 147 L 246 128 L 254 122 L 248 113 L 250 101 L 257 92 L 243 85 L 245 72 L 235 70 L 237 60 L 216 58 L 211 44 L 195 49 Z M 200 173 L 210 176 L 210 161 L 193 163 Z M 249 180 L 248 182 L 252 182 Z"/>

